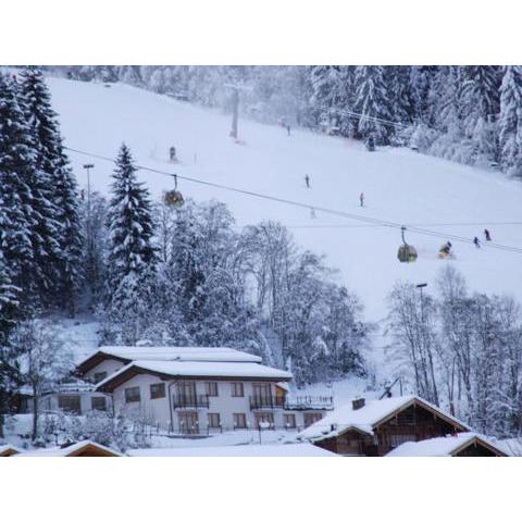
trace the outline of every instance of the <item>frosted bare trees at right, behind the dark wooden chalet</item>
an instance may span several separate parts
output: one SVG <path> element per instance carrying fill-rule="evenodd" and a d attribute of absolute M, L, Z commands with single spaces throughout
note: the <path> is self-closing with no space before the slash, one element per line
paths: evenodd
<path fill-rule="evenodd" d="M 389 308 L 397 375 L 481 433 L 521 435 L 522 309 L 513 298 L 472 294 L 447 266 L 436 294 L 397 283 Z"/>

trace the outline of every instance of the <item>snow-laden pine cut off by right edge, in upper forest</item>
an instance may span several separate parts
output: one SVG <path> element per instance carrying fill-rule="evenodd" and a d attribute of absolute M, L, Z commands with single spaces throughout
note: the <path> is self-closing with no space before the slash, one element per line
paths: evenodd
<path fill-rule="evenodd" d="M 506 171 L 522 173 L 522 66 L 505 67 L 500 86 L 500 160 Z"/>

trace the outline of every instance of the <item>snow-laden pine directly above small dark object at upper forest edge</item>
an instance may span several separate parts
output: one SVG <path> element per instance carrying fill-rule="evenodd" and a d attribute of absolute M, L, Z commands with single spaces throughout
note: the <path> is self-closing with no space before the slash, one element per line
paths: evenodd
<path fill-rule="evenodd" d="M 389 141 L 391 127 L 378 121 L 390 121 L 389 94 L 384 79 L 384 67 L 381 65 L 361 65 L 356 69 L 356 112 L 361 114 L 358 132 L 363 138 L 373 136 L 377 144 Z"/>

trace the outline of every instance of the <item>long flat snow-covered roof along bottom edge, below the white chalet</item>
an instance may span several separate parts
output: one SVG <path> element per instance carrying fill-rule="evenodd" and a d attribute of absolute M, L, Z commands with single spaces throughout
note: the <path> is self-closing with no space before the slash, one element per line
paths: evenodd
<path fill-rule="evenodd" d="M 239 446 L 204 446 L 199 448 L 133 449 L 129 457 L 338 457 L 313 444 L 266 444 Z"/>

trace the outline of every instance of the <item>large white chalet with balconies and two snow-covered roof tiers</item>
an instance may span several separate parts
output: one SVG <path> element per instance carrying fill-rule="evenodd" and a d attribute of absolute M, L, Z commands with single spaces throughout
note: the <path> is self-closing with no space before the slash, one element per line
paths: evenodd
<path fill-rule="evenodd" d="M 77 398 L 59 397 L 76 405 L 70 410 L 112 408 L 182 435 L 299 430 L 333 408 L 332 397 L 291 397 L 289 372 L 224 347 L 101 347 L 76 373 L 94 387 Z"/>

